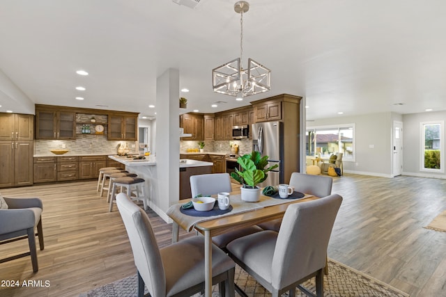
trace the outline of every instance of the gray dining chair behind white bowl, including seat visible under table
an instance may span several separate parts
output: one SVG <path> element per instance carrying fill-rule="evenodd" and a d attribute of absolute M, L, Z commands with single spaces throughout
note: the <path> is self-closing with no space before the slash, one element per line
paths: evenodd
<path fill-rule="evenodd" d="M 220 192 L 231 192 L 231 177 L 228 173 L 214 173 L 206 175 L 192 175 L 190 177 L 190 191 L 192 197 L 201 195 L 216 195 Z M 225 248 L 226 244 L 238 237 L 260 232 L 263 229 L 259 226 L 243 227 L 238 230 L 213 236 L 212 241 L 219 248 Z"/>

